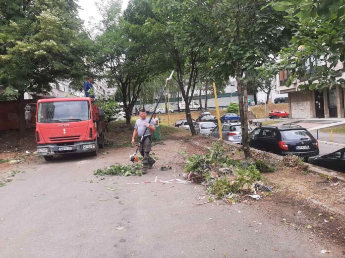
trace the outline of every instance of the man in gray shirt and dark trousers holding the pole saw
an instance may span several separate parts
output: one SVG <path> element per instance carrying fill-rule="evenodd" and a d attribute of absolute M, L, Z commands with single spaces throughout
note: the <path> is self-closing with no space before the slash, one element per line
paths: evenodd
<path fill-rule="evenodd" d="M 136 136 L 143 136 L 145 129 L 147 128 L 144 138 L 139 146 L 139 152 L 141 156 L 143 156 L 143 169 L 142 173 L 146 174 L 148 168 L 152 168 L 152 165 L 155 164 L 155 160 L 150 158 L 150 151 L 151 151 L 151 132 L 155 132 L 156 128 L 153 121 L 150 122 L 149 118 L 146 118 L 146 111 L 140 110 L 139 111 L 140 118 L 135 122 L 133 137 L 132 137 L 132 144 L 135 145 L 135 138 Z"/>

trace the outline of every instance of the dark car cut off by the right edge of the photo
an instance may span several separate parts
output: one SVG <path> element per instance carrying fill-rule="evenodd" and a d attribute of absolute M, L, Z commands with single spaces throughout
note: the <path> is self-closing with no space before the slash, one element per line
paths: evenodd
<path fill-rule="evenodd" d="M 332 153 L 310 157 L 308 162 L 326 169 L 345 172 L 345 148 Z"/>

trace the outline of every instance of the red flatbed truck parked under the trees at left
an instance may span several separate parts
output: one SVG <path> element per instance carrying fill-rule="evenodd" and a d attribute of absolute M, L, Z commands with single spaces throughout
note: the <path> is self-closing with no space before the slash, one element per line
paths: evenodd
<path fill-rule="evenodd" d="M 46 161 L 56 154 L 86 153 L 97 156 L 104 145 L 104 110 L 88 97 L 46 98 L 37 101 L 37 154 Z M 31 120 L 32 106 L 25 119 Z"/>

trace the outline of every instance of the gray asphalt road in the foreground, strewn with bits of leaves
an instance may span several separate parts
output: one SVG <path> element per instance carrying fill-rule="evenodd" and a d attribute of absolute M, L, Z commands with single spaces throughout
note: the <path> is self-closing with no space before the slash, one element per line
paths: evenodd
<path fill-rule="evenodd" d="M 127 163 L 132 148 L 18 167 L 25 173 L 0 187 L 0 257 L 336 257 L 320 253 L 329 247 L 316 236 L 311 241 L 246 204 L 192 205 L 207 201 L 201 185 L 127 184 L 182 172 L 177 165 L 159 171 L 177 160 L 166 146 L 154 148 L 158 165 L 142 177 L 93 175 Z"/>

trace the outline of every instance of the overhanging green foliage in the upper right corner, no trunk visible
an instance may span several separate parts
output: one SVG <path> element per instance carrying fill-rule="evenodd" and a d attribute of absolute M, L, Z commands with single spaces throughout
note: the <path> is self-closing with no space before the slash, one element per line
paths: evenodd
<path fill-rule="evenodd" d="M 287 69 L 286 86 L 299 79 L 304 81 L 301 88 L 345 87 L 345 70 L 335 70 L 345 61 L 345 0 L 272 1 L 268 6 L 285 14 L 296 29 L 288 47 L 279 52 L 281 62 L 263 69 Z"/>

